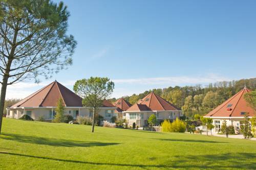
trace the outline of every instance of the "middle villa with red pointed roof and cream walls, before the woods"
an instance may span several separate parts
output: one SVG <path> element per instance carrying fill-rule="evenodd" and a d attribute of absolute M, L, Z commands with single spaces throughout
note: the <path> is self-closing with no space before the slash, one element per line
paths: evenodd
<path fill-rule="evenodd" d="M 147 119 L 155 114 L 158 123 L 164 119 L 176 119 L 182 116 L 182 110 L 170 104 L 154 92 L 148 94 L 138 103 L 123 111 L 123 118 L 126 119 L 129 126 L 133 123 L 138 127 L 147 126 Z"/>

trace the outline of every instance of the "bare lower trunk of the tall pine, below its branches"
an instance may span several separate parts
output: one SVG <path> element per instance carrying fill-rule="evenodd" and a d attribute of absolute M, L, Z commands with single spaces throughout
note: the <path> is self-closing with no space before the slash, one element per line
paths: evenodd
<path fill-rule="evenodd" d="M 8 82 L 8 76 L 4 76 L 3 84 L 2 84 L 2 88 L 1 88 L 1 97 L 0 97 L 0 134 L 1 134 L 1 130 L 2 130 L 7 82 Z"/>

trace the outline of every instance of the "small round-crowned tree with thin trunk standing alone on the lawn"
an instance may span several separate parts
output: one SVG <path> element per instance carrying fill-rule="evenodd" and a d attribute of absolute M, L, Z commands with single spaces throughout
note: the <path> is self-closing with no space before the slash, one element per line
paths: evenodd
<path fill-rule="evenodd" d="M 91 77 L 76 81 L 73 89 L 83 99 L 83 106 L 93 109 L 92 132 L 94 132 L 95 112 L 102 106 L 103 100 L 113 92 L 114 83 L 109 78 Z"/>

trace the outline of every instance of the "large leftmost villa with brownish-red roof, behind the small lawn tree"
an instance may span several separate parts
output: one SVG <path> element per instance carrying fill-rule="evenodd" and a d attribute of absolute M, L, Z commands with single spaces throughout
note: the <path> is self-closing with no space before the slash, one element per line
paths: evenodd
<path fill-rule="evenodd" d="M 42 116 L 45 120 L 52 120 L 59 99 L 63 100 L 66 108 L 65 114 L 70 114 L 74 118 L 77 116 L 92 116 L 92 110 L 89 107 L 82 106 L 80 96 L 59 82 L 54 81 L 22 101 L 8 107 L 6 117 L 20 118 L 27 114 L 33 119 L 38 119 L 39 116 Z M 98 114 L 102 115 L 105 120 L 110 121 L 111 117 L 116 115 L 115 110 L 116 107 L 105 100 L 102 103 L 102 107 L 99 108 Z"/>

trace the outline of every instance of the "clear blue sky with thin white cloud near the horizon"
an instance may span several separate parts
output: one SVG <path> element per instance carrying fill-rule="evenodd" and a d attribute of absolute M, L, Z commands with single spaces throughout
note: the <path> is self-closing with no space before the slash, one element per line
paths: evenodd
<path fill-rule="evenodd" d="M 8 87 L 7 98 L 24 98 L 55 79 L 72 89 L 78 79 L 109 77 L 118 98 L 255 77 L 256 1 L 63 2 L 78 42 L 73 65 L 40 84 Z"/>

